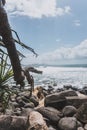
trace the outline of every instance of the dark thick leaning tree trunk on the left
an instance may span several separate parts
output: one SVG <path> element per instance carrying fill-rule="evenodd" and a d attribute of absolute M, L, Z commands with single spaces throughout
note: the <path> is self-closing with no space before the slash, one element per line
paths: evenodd
<path fill-rule="evenodd" d="M 7 14 L 4 8 L 0 5 L 0 36 L 3 38 L 3 42 L 7 48 L 8 55 L 12 64 L 14 72 L 14 80 L 21 84 L 24 80 L 22 75 L 22 68 L 20 60 L 16 51 L 15 42 L 12 37 L 11 28 L 8 22 Z"/>

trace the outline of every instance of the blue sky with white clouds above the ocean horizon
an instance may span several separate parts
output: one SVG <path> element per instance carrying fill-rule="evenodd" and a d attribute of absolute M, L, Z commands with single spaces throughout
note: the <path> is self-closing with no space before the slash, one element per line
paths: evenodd
<path fill-rule="evenodd" d="M 87 0 L 6 0 L 10 26 L 31 52 L 23 64 L 87 63 Z"/>

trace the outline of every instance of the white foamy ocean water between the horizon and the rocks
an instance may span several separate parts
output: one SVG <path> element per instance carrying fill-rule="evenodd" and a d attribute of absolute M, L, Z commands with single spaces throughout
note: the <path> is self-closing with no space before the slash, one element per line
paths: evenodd
<path fill-rule="evenodd" d="M 55 89 L 64 85 L 82 88 L 87 86 L 87 65 L 39 65 L 36 69 L 42 74 L 32 74 L 35 86 L 48 87 L 53 85 Z"/>

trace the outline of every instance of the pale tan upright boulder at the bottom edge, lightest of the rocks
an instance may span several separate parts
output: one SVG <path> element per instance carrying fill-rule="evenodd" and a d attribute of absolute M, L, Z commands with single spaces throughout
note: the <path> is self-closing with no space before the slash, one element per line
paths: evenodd
<path fill-rule="evenodd" d="M 28 130 L 48 130 L 43 116 L 36 111 L 32 111 L 29 115 L 29 128 Z"/>

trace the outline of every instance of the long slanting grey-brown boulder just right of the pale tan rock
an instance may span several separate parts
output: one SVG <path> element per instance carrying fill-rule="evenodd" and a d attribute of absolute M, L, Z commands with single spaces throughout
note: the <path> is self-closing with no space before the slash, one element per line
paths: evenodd
<path fill-rule="evenodd" d="M 37 108 L 37 111 L 40 112 L 43 117 L 49 119 L 49 121 L 52 123 L 58 123 L 60 117 L 63 116 L 60 111 L 52 107 L 40 107 Z"/>

